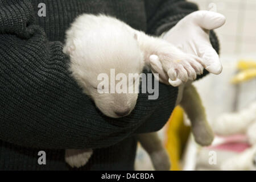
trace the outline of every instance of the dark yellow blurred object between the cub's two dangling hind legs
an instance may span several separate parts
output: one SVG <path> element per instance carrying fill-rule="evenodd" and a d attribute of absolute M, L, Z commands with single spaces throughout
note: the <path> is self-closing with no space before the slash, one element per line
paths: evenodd
<path fill-rule="evenodd" d="M 180 171 L 180 160 L 190 127 L 183 122 L 183 109 L 176 106 L 167 122 L 165 147 L 171 160 L 171 171 Z"/>

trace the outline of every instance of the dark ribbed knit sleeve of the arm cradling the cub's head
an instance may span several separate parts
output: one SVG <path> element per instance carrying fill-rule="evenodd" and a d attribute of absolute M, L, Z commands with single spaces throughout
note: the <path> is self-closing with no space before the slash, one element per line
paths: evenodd
<path fill-rule="evenodd" d="M 63 45 L 49 42 L 33 23 L 30 2 L 0 4 L 1 140 L 36 148 L 101 148 L 133 134 L 153 114 L 160 117 L 150 127 L 166 123 L 174 88 L 160 84 L 157 100 L 139 94 L 128 117 L 105 117 L 71 77 Z"/>

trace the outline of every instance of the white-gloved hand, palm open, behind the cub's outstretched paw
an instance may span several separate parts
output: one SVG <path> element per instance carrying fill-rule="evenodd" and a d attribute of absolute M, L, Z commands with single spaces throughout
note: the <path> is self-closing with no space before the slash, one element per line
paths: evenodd
<path fill-rule="evenodd" d="M 163 39 L 174 44 L 185 53 L 199 56 L 201 58 L 200 64 L 210 73 L 220 74 L 222 65 L 217 52 L 210 44 L 209 30 L 221 27 L 225 20 L 224 15 L 213 11 L 195 11 L 185 16 L 176 26 L 166 32 Z M 168 77 L 158 56 L 150 56 L 150 64 L 152 72 L 159 73 L 159 81 L 169 82 L 172 86 L 179 86 L 183 83 L 179 78 L 179 71 L 177 71 L 176 79 L 172 78 L 171 80 Z M 201 74 L 198 71 L 196 72 L 197 75 Z"/>

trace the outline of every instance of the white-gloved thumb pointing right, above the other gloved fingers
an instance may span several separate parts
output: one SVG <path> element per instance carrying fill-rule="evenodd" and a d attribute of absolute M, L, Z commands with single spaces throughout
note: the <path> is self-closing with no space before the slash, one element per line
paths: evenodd
<path fill-rule="evenodd" d="M 201 28 L 205 28 L 207 30 L 213 30 L 221 27 L 226 22 L 224 15 L 214 11 L 196 11 L 194 13 L 194 17 L 196 23 L 199 24 Z"/>

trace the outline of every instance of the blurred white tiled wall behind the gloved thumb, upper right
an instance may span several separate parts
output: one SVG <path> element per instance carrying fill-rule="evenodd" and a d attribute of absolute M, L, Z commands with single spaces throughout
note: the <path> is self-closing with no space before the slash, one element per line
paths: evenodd
<path fill-rule="evenodd" d="M 221 55 L 256 54 L 256 0 L 188 0 L 200 10 L 216 7 L 226 16 L 226 23 L 216 30 L 221 44 Z"/>

